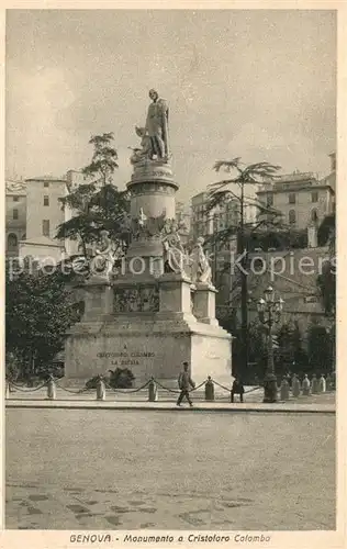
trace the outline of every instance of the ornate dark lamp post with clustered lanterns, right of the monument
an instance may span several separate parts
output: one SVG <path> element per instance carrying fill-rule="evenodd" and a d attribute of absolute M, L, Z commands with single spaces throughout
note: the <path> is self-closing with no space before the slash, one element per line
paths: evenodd
<path fill-rule="evenodd" d="M 260 298 L 257 303 L 259 321 L 267 326 L 268 336 L 268 363 L 264 379 L 264 401 L 277 402 L 277 379 L 275 376 L 272 328 L 279 322 L 283 310 L 283 300 L 276 298 L 273 288 L 269 287 L 264 292 L 265 299 Z"/>

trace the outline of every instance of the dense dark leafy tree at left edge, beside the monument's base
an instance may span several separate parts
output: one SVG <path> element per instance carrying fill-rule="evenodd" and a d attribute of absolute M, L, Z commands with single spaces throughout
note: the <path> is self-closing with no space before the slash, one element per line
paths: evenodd
<path fill-rule="evenodd" d="M 66 278 L 56 270 L 14 278 L 5 271 L 5 350 L 26 378 L 46 370 L 63 349 L 67 329 L 80 318 L 79 304 L 67 290 Z M 14 357 L 14 359 L 13 359 Z"/>

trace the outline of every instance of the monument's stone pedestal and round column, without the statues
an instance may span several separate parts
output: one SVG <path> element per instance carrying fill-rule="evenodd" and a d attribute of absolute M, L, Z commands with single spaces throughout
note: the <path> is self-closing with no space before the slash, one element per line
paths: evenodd
<path fill-rule="evenodd" d="M 169 164 L 138 163 L 127 188 L 135 229 L 125 269 L 110 282 L 86 283 L 82 322 L 66 341 L 66 377 L 81 382 L 128 368 L 137 386 L 153 377 L 177 389 L 188 361 L 197 384 L 211 376 L 230 385 L 232 336 L 215 320 L 216 290 L 192 287 L 182 272 L 163 272 L 160 227 L 175 219 L 178 189 Z"/>

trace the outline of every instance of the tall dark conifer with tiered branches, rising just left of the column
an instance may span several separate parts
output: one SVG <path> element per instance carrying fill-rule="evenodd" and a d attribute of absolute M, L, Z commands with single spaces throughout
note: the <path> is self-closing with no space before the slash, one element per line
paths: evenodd
<path fill-rule="evenodd" d="M 119 191 L 112 182 L 117 168 L 117 153 L 111 146 L 112 141 L 112 133 L 91 137 L 89 143 L 94 152 L 91 163 L 82 169 L 89 182 L 60 199 L 63 209 L 70 209 L 74 216 L 57 227 L 56 238 L 79 240 L 85 256 L 87 245 L 98 242 L 103 229 L 109 232 L 119 255 L 123 255 L 130 242 L 130 199 L 127 191 Z"/>

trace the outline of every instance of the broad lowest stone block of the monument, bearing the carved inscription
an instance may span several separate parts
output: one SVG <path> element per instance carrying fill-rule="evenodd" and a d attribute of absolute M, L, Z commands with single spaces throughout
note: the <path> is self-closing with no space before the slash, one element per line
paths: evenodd
<path fill-rule="evenodd" d="M 220 326 L 197 322 L 189 313 L 142 313 L 103 317 L 75 325 L 66 341 L 66 378 L 70 381 L 128 368 L 134 386 L 152 377 L 177 388 L 182 362 L 197 384 L 208 376 L 230 385 L 231 335 Z"/>

